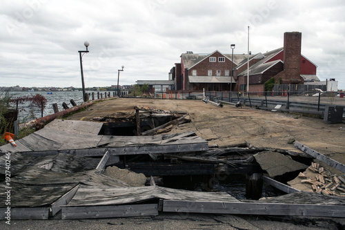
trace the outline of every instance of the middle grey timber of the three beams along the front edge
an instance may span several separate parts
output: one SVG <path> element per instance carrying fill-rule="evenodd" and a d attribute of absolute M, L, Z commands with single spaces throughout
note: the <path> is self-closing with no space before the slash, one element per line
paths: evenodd
<path fill-rule="evenodd" d="M 131 204 L 121 206 L 63 207 L 62 220 L 124 218 L 158 215 L 158 204 Z"/>

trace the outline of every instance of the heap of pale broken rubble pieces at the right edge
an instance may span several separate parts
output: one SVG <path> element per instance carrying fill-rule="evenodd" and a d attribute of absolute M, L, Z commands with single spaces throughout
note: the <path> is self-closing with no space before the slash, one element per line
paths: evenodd
<path fill-rule="evenodd" d="M 318 163 L 312 162 L 311 166 L 308 167 L 309 171 L 313 174 L 305 171 L 299 173 L 298 178 L 301 179 L 302 183 L 311 184 L 313 192 L 324 195 L 337 195 L 345 197 L 345 179 L 341 176 L 331 175 L 324 171 L 323 167 L 320 167 Z M 315 173 L 317 173 L 315 175 Z M 308 174 L 309 176 L 307 176 Z M 313 175 L 313 178 L 310 176 Z"/>

